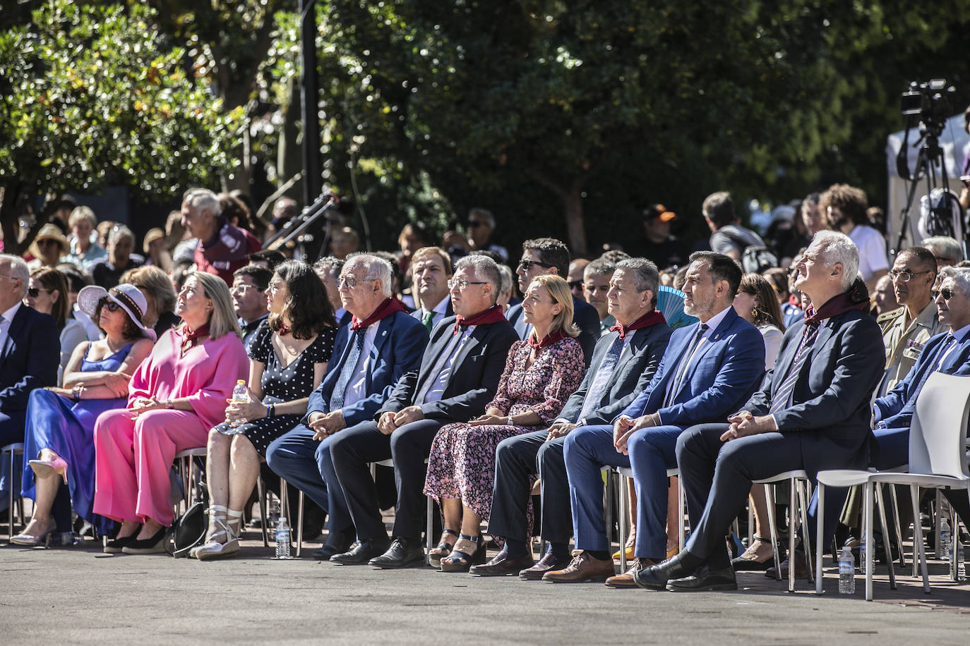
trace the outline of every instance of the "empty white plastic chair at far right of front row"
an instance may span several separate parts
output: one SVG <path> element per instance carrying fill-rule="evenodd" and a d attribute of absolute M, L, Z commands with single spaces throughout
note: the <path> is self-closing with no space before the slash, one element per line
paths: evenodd
<path fill-rule="evenodd" d="M 970 499 L 970 473 L 965 453 L 967 415 L 970 413 L 970 378 L 933 373 L 922 386 L 910 425 L 909 471 L 867 472 L 836 470 L 819 473 L 819 532 L 822 531 L 824 487 L 865 485 L 865 544 L 872 545 L 873 491 L 876 485 L 904 484 L 910 487 L 913 503 L 913 560 L 920 561 L 923 592 L 929 594 L 926 553 L 920 523 L 920 487 L 930 489 L 967 489 Z M 872 600 L 873 551 L 865 553 L 865 600 Z M 955 550 L 954 555 L 955 555 Z M 914 563 L 915 565 L 915 563 Z M 891 571 L 891 570 L 890 570 Z M 822 545 L 816 552 L 816 594 L 822 594 Z"/>

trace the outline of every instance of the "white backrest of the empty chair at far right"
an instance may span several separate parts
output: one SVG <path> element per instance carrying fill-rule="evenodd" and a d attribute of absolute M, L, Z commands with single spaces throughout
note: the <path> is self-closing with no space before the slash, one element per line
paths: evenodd
<path fill-rule="evenodd" d="M 935 372 L 922 386 L 910 426 L 911 474 L 965 479 L 970 377 Z"/>

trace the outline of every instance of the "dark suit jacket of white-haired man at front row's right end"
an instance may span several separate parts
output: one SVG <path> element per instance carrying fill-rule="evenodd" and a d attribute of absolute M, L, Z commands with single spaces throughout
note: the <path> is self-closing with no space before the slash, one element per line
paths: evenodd
<path fill-rule="evenodd" d="M 773 393 L 785 381 L 801 344 L 805 322 L 785 333 L 775 367 L 744 409 L 767 415 Z M 923 351 L 925 352 L 925 351 Z M 883 376 L 886 348 L 879 324 L 857 310 L 834 316 L 819 328 L 811 354 L 792 391 L 792 405 L 775 413 L 778 430 L 796 432 L 805 471 L 863 469 L 872 437 L 869 400 Z"/>

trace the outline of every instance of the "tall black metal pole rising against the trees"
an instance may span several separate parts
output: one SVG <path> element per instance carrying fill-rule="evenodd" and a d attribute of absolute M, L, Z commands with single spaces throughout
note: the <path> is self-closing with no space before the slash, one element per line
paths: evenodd
<path fill-rule="evenodd" d="M 323 191 L 320 173 L 319 92 L 316 84 L 316 12 L 315 0 L 300 0 L 300 55 L 303 74 L 300 88 L 300 112 L 304 125 L 304 204 L 312 204 Z"/>

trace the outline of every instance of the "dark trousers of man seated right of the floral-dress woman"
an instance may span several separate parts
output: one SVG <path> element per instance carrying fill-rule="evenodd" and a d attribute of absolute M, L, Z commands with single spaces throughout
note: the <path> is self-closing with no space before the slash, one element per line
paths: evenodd
<path fill-rule="evenodd" d="M 563 446 L 566 438 L 546 442 L 548 432 L 533 431 L 502 440 L 495 451 L 495 486 L 488 532 L 492 536 L 529 540 L 526 517 L 530 477 L 542 478 L 542 538 L 568 542 L 569 480 Z"/>

